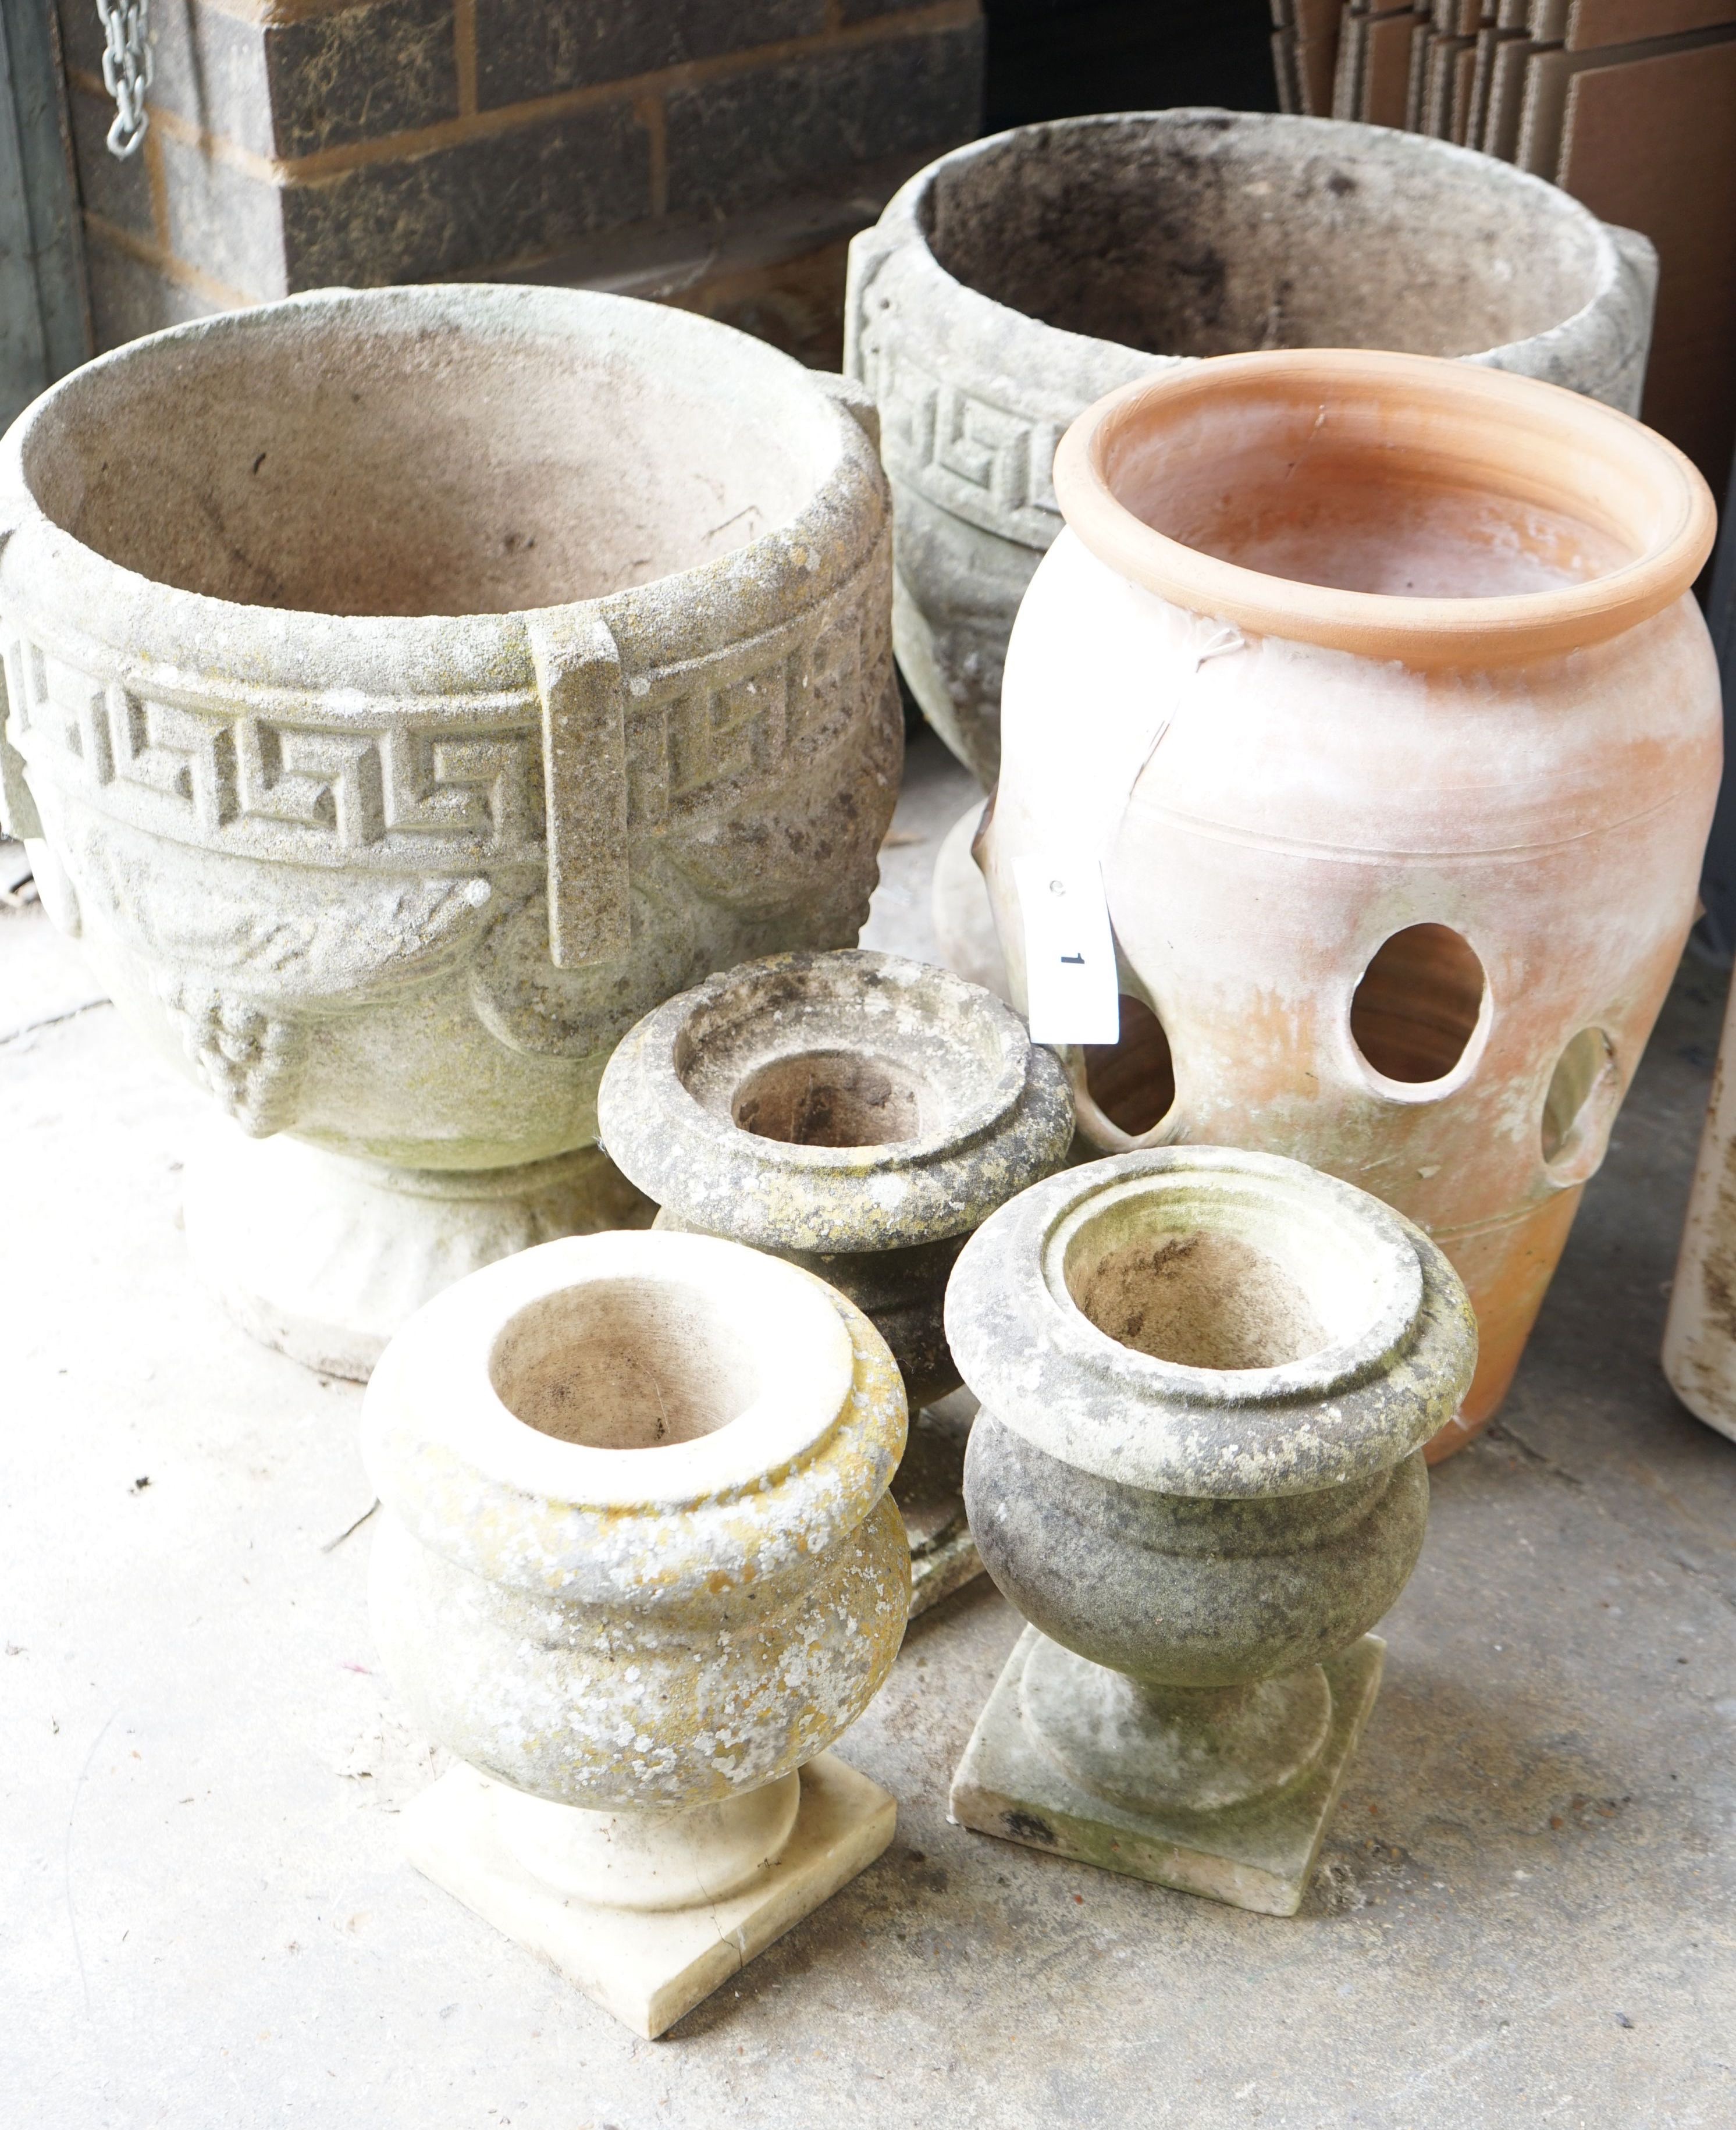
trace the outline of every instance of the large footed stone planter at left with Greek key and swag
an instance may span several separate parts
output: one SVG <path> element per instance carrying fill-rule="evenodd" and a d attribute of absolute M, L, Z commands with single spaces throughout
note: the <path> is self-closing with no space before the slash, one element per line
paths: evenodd
<path fill-rule="evenodd" d="M 684 311 L 396 288 L 134 341 L 0 445 L 9 816 L 241 1127 L 187 1242 L 260 1338 L 360 1376 L 635 1218 L 618 1037 L 856 937 L 901 750 L 865 422 Z"/>

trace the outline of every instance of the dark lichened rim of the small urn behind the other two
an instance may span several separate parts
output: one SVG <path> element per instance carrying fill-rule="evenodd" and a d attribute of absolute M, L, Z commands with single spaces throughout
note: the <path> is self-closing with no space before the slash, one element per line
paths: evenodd
<path fill-rule="evenodd" d="M 848 1018 L 829 1018 L 839 1005 Z M 846 1029 L 910 1082 L 910 1137 L 818 1146 L 739 1120 L 750 1082 L 837 1050 Z M 609 1059 L 596 1114 L 609 1159 L 684 1220 L 820 1252 L 963 1235 L 1065 1159 L 1074 1131 L 1067 1076 L 1012 1007 L 865 948 L 769 954 L 654 1007 Z"/>

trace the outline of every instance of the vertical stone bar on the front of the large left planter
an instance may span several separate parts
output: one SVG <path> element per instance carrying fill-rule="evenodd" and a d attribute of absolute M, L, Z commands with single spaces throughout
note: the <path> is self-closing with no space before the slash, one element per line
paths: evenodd
<path fill-rule="evenodd" d="M 630 941 L 626 679 L 605 622 L 582 607 L 530 616 L 543 705 L 550 958 L 618 961 Z"/>

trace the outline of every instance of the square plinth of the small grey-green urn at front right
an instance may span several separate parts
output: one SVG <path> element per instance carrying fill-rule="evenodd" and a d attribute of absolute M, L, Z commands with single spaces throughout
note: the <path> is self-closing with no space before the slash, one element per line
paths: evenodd
<path fill-rule="evenodd" d="M 1259 1915 L 1295 1915 L 1338 1789 L 1357 1751 L 1387 1644 L 1378 1634 L 1327 1659 L 1331 1732 L 1310 1774 L 1276 1798 L 1223 1813 L 1133 1813 L 1093 1798 L 1025 1730 L 1025 1664 L 1042 1636 L 1027 1627 L 978 1717 L 952 1776 L 952 1819 L 978 1834 L 1050 1855 L 1206 1894 Z"/>

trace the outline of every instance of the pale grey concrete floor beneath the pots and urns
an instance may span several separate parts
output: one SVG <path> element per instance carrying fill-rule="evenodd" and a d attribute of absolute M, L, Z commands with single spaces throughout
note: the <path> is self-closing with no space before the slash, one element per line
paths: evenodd
<path fill-rule="evenodd" d="M 873 944 L 969 786 L 912 752 Z M 910 841 L 899 841 L 910 837 Z M 846 1738 L 886 1857 L 641 2043 L 398 1862 L 360 1391 L 192 1280 L 166 1080 L 0 914 L 0 2119 L 1736 2124 L 1736 1444 L 1655 1355 L 1721 980 L 1689 963 L 1502 1425 L 1436 1472 L 1295 1921 L 946 1823 L 1018 1621 L 920 1621 Z"/>

